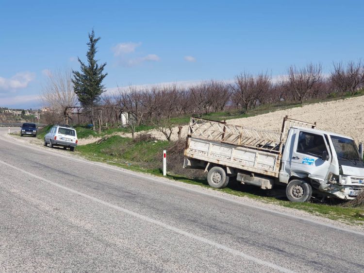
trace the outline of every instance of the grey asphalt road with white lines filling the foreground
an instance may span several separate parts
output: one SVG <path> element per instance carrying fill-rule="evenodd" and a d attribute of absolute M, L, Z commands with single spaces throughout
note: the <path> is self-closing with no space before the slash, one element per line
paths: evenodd
<path fill-rule="evenodd" d="M 364 272 L 364 233 L 4 132 L 0 272 Z"/>

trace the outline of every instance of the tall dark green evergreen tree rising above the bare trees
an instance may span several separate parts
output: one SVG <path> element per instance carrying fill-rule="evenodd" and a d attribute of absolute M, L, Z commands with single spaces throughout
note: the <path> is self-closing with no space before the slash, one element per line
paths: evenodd
<path fill-rule="evenodd" d="M 97 52 L 96 43 L 101 37 L 95 38 L 95 32 L 92 30 L 88 34 L 88 51 L 87 64 L 83 63 L 80 58 L 78 61 L 81 64 L 81 71 L 73 71 L 73 89 L 81 102 L 81 105 L 91 112 L 91 121 L 95 130 L 94 109 L 100 101 L 101 94 L 105 91 L 105 86 L 102 85 L 102 80 L 106 77 L 107 73 L 103 74 L 102 71 L 106 63 L 98 65 L 98 60 L 95 60 Z"/>

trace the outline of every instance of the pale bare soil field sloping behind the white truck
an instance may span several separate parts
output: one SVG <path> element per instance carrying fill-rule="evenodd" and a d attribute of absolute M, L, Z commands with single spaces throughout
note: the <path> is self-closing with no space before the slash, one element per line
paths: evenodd
<path fill-rule="evenodd" d="M 255 117 L 229 119 L 227 122 L 251 128 L 280 131 L 283 117 L 286 115 L 292 119 L 312 123 L 316 121 L 317 129 L 351 136 L 356 143 L 364 141 L 364 96 L 308 104 Z M 187 125 L 183 126 L 182 137 L 186 137 L 187 129 Z M 177 132 L 178 127 L 173 128 L 172 140 L 177 140 Z M 165 136 L 156 130 L 150 130 L 148 133 L 159 139 L 165 139 Z M 122 136 L 131 137 L 131 134 Z"/>

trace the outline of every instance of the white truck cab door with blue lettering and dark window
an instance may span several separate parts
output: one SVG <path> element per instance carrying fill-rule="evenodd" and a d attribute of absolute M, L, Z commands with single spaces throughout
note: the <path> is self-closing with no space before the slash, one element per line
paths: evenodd
<path fill-rule="evenodd" d="M 322 153 L 326 151 L 329 160 L 322 160 Z M 325 180 L 330 165 L 331 154 L 324 134 L 298 131 L 294 149 L 290 158 L 291 175 L 310 177 L 314 180 Z"/>

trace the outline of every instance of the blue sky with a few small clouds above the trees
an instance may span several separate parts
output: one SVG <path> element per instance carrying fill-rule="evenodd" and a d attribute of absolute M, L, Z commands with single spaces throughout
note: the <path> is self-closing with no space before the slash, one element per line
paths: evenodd
<path fill-rule="evenodd" d="M 35 108 L 46 72 L 79 69 L 94 28 L 112 90 L 282 75 L 363 57 L 364 1 L 0 0 L 0 106 Z"/>

